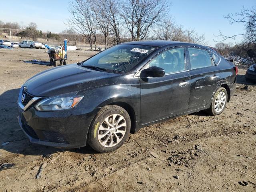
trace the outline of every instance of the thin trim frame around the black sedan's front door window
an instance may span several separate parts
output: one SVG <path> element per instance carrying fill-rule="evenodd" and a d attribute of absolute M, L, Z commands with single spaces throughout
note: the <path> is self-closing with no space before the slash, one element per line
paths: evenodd
<path fill-rule="evenodd" d="M 136 73 L 134 74 L 134 78 L 140 78 L 140 72 L 141 72 L 142 70 L 144 70 L 144 69 L 148 66 L 148 64 L 151 62 L 151 60 L 154 59 L 156 56 L 158 56 L 158 54 L 160 54 L 160 53 L 162 53 L 162 52 L 164 52 L 164 51 L 166 51 L 166 50 L 171 50 L 171 49 L 175 49 L 175 48 L 183 48 L 183 50 L 184 50 L 184 64 L 185 64 L 185 70 L 177 71 L 177 72 L 171 72 L 171 73 L 166 73 L 166 74 L 164 74 L 164 76 L 171 75 L 171 74 L 176 74 L 176 73 L 188 72 L 189 69 L 188 69 L 187 61 L 186 61 L 186 59 L 187 59 L 186 47 L 187 47 L 187 46 L 173 46 L 173 47 L 169 47 L 169 48 L 166 48 L 166 49 L 164 49 L 164 50 L 158 52 L 158 53 L 155 54 L 152 58 L 150 58 L 150 60 L 149 60 L 144 66 L 142 66 L 142 67 L 140 68 L 140 70 L 138 70 L 138 72 L 136 72 Z M 147 78 L 153 78 L 153 77 L 147 77 Z"/>

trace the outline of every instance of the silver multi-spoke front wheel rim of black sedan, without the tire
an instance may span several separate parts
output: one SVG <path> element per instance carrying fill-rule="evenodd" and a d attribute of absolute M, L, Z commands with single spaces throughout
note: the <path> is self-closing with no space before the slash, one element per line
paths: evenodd
<path fill-rule="evenodd" d="M 126 120 L 120 114 L 106 117 L 98 129 L 98 141 L 104 147 L 118 144 L 126 133 Z"/>

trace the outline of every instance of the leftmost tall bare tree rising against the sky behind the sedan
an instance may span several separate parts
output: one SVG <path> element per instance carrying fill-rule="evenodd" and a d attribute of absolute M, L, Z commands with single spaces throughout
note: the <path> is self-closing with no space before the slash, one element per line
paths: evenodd
<path fill-rule="evenodd" d="M 91 49 L 94 43 L 96 50 L 97 22 L 94 16 L 93 3 L 92 0 L 72 0 L 68 7 L 72 16 L 67 20 L 67 24 L 70 29 L 87 38 Z"/>

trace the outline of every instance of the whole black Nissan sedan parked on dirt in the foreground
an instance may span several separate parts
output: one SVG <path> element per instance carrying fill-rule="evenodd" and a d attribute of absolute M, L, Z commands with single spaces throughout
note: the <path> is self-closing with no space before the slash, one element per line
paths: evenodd
<path fill-rule="evenodd" d="M 18 122 L 33 143 L 88 143 L 110 152 L 144 126 L 200 110 L 221 114 L 237 72 L 232 62 L 197 44 L 126 42 L 27 80 Z"/>

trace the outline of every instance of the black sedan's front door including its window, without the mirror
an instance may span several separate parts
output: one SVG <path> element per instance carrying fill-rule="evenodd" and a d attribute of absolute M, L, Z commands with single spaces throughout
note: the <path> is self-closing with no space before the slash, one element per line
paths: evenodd
<path fill-rule="evenodd" d="M 188 110 L 190 73 L 185 68 L 184 48 L 170 48 L 161 52 L 145 68 L 152 66 L 163 68 L 165 75 L 140 78 L 141 124 Z"/>

